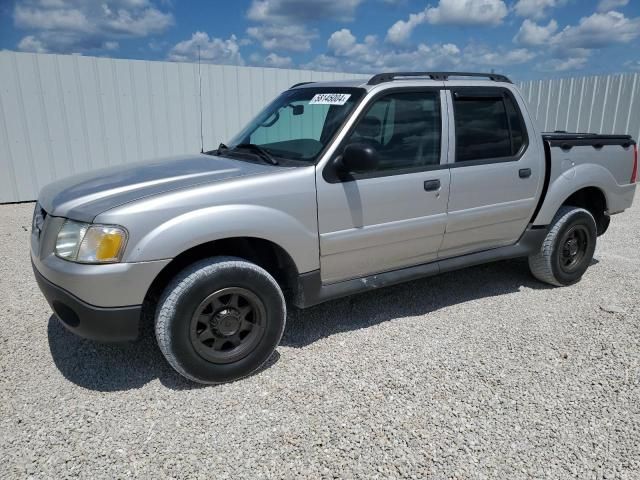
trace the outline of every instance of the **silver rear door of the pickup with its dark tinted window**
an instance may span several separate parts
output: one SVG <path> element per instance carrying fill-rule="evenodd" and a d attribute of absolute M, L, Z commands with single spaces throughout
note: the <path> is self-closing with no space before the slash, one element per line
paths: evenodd
<path fill-rule="evenodd" d="M 451 88 L 448 99 L 455 145 L 439 257 L 514 244 L 544 179 L 544 153 L 527 136 L 535 130 L 522 115 L 522 99 L 501 87 Z"/>

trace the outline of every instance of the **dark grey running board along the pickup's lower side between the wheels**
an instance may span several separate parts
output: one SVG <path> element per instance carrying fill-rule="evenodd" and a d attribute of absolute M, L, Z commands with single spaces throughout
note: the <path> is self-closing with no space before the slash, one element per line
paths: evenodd
<path fill-rule="evenodd" d="M 374 290 L 380 287 L 397 285 L 424 277 L 431 277 L 461 268 L 473 267 L 475 265 L 482 265 L 499 260 L 526 257 L 540 248 L 546 235 L 546 228 L 528 229 L 518 243 L 514 245 L 436 260 L 415 267 L 401 268 L 399 270 L 377 273 L 362 278 L 354 278 L 352 280 L 344 280 L 342 282 L 325 285 L 322 284 L 320 270 L 314 270 L 298 276 L 297 294 L 294 295 L 293 304 L 298 308 L 307 308 L 329 300 Z"/>

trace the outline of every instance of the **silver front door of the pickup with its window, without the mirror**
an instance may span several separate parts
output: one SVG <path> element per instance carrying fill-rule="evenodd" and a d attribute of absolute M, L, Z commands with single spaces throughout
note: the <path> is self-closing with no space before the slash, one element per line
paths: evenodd
<path fill-rule="evenodd" d="M 449 197 L 446 98 L 438 88 L 384 91 L 369 101 L 336 150 L 368 143 L 375 171 L 317 172 L 322 282 L 334 283 L 435 260 Z"/>

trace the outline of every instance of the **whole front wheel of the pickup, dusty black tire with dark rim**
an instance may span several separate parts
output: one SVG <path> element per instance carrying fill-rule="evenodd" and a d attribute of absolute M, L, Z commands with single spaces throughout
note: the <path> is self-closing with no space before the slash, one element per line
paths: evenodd
<path fill-rule="evenodd" d="M 201 260 L 180 272 L 156 310 L 158 346 L 169 364 L 198 383 L 245 377 L 280 343 L 286 304 L 274 278 L 236 257 Z"/>

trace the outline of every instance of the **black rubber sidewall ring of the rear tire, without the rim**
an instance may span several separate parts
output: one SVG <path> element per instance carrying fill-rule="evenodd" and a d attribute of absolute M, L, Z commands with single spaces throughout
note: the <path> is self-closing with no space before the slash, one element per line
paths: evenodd
<path fill-rule="evenodd" d="M 560 282 L 562 285 L 571 285 L 578 282 L 589 267 L 596 249 L 596 239 L 598 235 L 596 222 L 593 216 L 586 210 L 574 210 L 567 213 L 566 216 L 568 216 L 569 218 L 567 218 L 563 222 L 562 226 L 558 230 L 553 245 L 553 251 L 551 254 L 551 269 L 553 271 L 553 276 L 558 280 L 558 282 Z M 560 267 L 560 252 L 562 249 L 562 245 L 560 242 L 564 238 L 567 231 L 576 225 L 584 225 L 587 228 L 587 231 L 589 232 L 589 244 L 581 261 L 580 268 L 571 273 L 568 273 L 562 270 L 562 268 Z"/>

